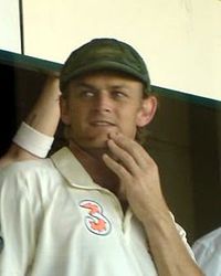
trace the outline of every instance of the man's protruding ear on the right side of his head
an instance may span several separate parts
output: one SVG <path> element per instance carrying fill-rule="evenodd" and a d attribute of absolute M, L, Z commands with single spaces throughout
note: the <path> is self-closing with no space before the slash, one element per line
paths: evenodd
<path fill-rule="evenodd" d="M 157 110 L 157 98 L 149 96 L 143 99 L 141 108 L 137 115 L 137 127 L 144 127 L 148 125 Z"/>

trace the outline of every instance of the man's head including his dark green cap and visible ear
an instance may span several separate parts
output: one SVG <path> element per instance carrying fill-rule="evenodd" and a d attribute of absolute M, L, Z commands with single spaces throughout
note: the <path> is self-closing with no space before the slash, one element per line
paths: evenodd
<path fill-rule="evenodd" d="M 61 115 L 69 139 L 104 148 L 108 135 L 135 139 L 154 117 L 157 102 L 140 55 L 113 39 L 93 40 L 72 52 L 61 72 Z"/>

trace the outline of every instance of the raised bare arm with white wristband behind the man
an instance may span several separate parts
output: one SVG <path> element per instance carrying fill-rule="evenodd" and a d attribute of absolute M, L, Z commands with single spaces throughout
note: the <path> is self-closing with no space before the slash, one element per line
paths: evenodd
<path fill-rule="evenodd" d="M 59 76 L 49 75 L 32 110 L 21 124 L 12 144 L 0 158 L 0 168 L 14 161 L 46 157 L 60 120 Z"/>

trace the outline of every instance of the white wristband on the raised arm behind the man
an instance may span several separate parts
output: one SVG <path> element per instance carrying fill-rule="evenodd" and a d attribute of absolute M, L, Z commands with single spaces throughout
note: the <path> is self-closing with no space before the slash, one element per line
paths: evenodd
<path fill-rule="evenodd" d="M 44 158 L 51 149 L 54 137 L 44 135 L 22 121 L 12 141 L 32 155 Z"/>

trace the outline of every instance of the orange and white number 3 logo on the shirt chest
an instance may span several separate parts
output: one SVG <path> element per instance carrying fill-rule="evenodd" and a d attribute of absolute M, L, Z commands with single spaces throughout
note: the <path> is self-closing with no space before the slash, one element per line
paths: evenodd
<path fill-rule="evenodd" d="M 87 210 L 84 221 L 90 232 L 97 235 L 107 235 L 110 232 L 110 222 L 104 215 L 103 209 L 97 202 L 84 200 L 80 202 L 80 206 Z"/>

